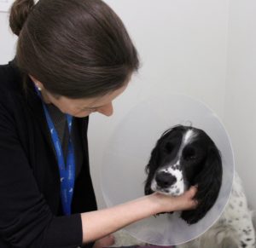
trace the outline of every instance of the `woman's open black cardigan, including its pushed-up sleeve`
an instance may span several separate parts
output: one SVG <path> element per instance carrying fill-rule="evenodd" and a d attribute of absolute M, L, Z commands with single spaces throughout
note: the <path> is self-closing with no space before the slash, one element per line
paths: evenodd
<path fill-rule="evenodd" d="M 59 169 L 42 102 L 32 81 L 24 90 L 23 77 L 14 61 L 0 66 L 0 247 L 75 248 L 82 245 L 79 213 L 96 210 L 89 118 L 73 118 L 80 165 L 72 215 L 63 216 Z"/>

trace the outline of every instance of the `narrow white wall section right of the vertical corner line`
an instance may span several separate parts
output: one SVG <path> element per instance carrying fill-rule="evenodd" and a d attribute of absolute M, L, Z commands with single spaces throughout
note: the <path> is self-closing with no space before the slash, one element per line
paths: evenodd
<path fill-rule="evenodd" d="M 244 181 L 249 203 L 256 209 L 256 2 L 230 1 L 228 70 L 224 123 Z"/>

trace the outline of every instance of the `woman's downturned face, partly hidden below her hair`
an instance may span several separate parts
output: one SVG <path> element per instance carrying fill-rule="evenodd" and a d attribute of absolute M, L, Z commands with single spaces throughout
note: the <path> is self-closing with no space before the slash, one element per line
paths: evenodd
<path fill-rule="evenodd" d="M 85 99 L 71 99 L 66 96 L 56 97 L 44 89 L 44 85 L 38 82 L 35 78 L 32 78 L 32 80 L 36 86 L 42 89 L 41 93 L 45 103 L 52 103 L 55 107 L 58 107 L 61 112 L 65 112 L 79 118 L 86 117 L 91 112 L 100 112 L 106 116 L 111 116 L 113 114 L 113 100 L 125 91 L 128 84 L 127 83 L 123 87 L 103 96 Z"/>

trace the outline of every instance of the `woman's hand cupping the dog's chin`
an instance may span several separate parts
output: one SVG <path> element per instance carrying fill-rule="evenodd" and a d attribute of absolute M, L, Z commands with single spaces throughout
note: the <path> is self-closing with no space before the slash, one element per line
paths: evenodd
<path fill-rule="evenodd" d="M 154 193 L 160 203 L 160 212 L 170 211 L 184 211 L 189 209 L 195 209 L 197 202 L 195 199 L 195 193 L 197 189 L 192 186 L 188 191 L 179 196 L 170 196 L 161 193 Z"/>

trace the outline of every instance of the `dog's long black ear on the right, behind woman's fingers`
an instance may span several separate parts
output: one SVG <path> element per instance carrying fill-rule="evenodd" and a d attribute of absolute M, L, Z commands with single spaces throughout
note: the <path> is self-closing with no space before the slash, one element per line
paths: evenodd
<path fill-rule="evenodd" d="M 193 185 L 198 187 L 195 199 L 198 205 L 195 210 L 183 211 L 181 217 L 189 224 L 201 220 L 212 208 L 218 198 L 222 182 L 222 161 L 218 148 L 212 144 L 207 152 L 207 159 L 202 164 L 201 172 L 195 176 Z"/>

